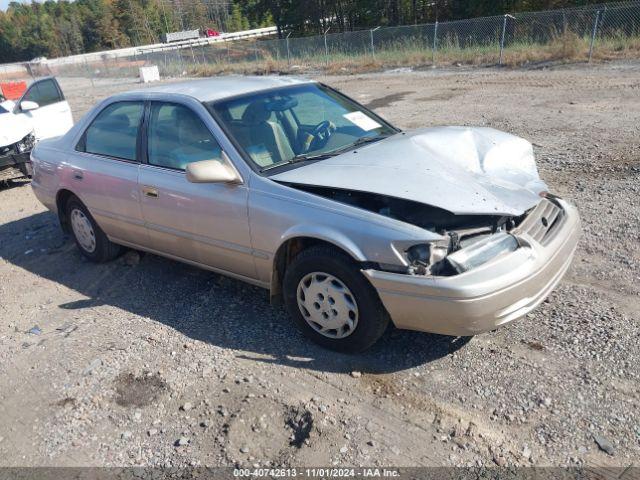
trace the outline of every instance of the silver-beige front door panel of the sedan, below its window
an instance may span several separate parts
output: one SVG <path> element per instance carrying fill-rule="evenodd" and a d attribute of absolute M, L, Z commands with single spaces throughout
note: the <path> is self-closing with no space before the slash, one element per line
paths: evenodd
<path fill-rule="evenodd" d="M 140 166 L 138 182 L 150 248 L 256 278 L 246 187 L 190 183 L 152 165 Z"/>

